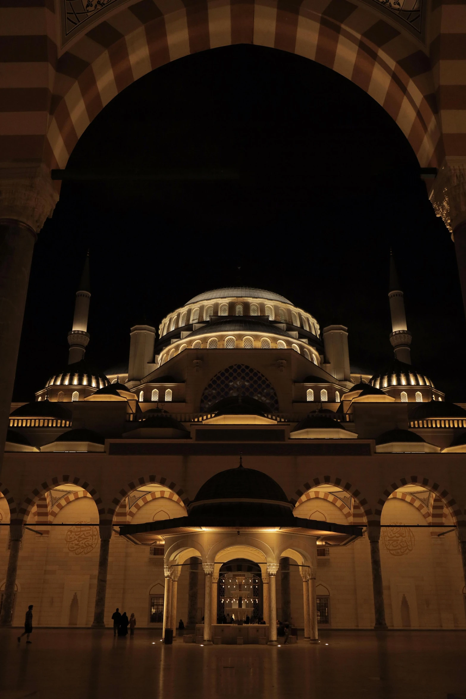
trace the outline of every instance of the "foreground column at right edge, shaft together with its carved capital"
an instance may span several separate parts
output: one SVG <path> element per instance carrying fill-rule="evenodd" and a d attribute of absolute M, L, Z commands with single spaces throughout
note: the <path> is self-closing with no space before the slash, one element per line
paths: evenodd
<path fill-rule="evenodd" d="M 430 201 L 455 243 L 463 305 L 466 311 L 466 157 L 447 156 L 439 168 Z"/>

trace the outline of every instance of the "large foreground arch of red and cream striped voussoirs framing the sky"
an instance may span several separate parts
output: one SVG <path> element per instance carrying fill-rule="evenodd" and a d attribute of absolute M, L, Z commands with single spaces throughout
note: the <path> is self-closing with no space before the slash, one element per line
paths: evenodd
<path fill-rule="evenodd" d="M 134 80 L 177 58 L 238 43 L 295 53 L 344 75 L 393 117 L 421 166 L 438 164 L 443 146 L 428 56 L 364 6 L 312 4 L 141 0 L 122 8 L 57 62 L 48 164 L 64 168 L 89 123 Z"/>

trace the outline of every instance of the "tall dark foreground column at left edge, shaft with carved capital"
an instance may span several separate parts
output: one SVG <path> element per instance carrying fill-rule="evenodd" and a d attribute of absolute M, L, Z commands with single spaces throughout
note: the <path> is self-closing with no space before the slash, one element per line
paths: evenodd
<path fill-rule="evenodd" d="M 32 251 L 57 201 L 44 164 L 0 164 L 0 468 Z"/>

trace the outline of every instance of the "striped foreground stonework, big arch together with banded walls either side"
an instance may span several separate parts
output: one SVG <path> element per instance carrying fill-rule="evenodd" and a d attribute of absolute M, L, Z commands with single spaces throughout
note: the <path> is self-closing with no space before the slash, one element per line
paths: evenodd
<path fill-rule="evenodd" d="M 129 0 L 100 21 L 96 15 L 63 50 L 59 2 L 1 3 L 3 161 L 45 159 L 64 168 L 89 123 L 131 82 L 182 56 L 237 43 L 296 53 L 352 80 L 393 117 L 421 166 L 466 152 L 463 0 L 426 6 L 428 45 L 377 3 Z"/>

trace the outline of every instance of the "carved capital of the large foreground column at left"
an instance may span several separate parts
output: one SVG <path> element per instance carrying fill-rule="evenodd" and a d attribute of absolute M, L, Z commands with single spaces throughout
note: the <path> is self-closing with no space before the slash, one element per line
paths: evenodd
<path fill-rule="evenodd" d="M 21 222 L 38 233 L 58 198 L 45 163 L 0 163 L 0 219 Z"/>

